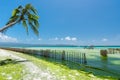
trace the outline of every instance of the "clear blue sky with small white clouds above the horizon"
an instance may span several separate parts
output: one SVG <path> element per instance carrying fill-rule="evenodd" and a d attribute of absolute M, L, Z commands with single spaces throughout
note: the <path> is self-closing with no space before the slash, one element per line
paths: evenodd
<path fill-rule="evenodd" d="M 120 0 L 1 0 L 0 28 L 12 10 L 31 3 L 40 16 L 39 36 L 21 24 L 0 33 L 0 42 L 120 45 Z"/>

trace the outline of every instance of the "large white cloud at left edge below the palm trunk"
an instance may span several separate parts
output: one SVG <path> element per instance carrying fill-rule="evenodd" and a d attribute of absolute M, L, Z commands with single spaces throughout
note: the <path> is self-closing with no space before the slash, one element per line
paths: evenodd
<path fill-rule="evenodd" d="M 0 42 L 17 42 L 17 41 L 18 40 L 16 38 L 0 33 Z"/>

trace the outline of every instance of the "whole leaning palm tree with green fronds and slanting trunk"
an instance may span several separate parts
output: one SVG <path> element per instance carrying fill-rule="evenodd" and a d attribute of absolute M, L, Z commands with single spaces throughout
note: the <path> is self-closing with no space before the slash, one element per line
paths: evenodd
<path fill-rule="evenodd" d="M 27 4 L 25 7 L 18 6 L 18 8 L 14 9 L 12 12 L 12 16 L 10 17 L 7 24 L 0 29 L 0 32 L 4 32 L 7 29 L 11 28 L 13 25 L 17 23 L 22 23 L 24 28 L 28 34 L 28 25 L 31 27 L 33 32 L 36 35 L 39 35 L 39 16 L 37 15 L 37 10 L 31 5 Z"/>

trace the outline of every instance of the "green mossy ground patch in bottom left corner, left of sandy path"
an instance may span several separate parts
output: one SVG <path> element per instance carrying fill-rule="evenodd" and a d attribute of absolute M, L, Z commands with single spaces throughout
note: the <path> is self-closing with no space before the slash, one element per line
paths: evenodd
<path fill-rule="evenodd" d="M 10 59 L 3 59 L 6 60 L 6 65 L 0 66 L 0 80 L 21 80 L 23 74 L 23 65 L 22 64 L 13 64 L 9 63 Z M 7 64 L 9 63 L 9 64 Z"/>

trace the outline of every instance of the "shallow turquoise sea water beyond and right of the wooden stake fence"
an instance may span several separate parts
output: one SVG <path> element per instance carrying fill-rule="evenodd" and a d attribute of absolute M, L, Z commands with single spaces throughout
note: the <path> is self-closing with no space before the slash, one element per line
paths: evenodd
<path fill-rule="evenodd" d="M 17 47 L 17 48 L 26 48 L 26 49 L 56 49 L 56 50 L 66 50 L 67 52 L 82 52 L 86 53 L 87 65 L 100 68 L 105 70 L 106 72 L 111 72 L 112 75 L 120 75 L 120 54 L 108 54 L 107 59 L 103 59 L 100 56 L 100 49 L 108 49 L 108 48 L 120 48 L 120 46 L 95 46 L 94 49 L 84 49 L 81 47 L 58 47 L 58 46 L 44 46 L 44 47 Z"/>

